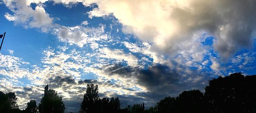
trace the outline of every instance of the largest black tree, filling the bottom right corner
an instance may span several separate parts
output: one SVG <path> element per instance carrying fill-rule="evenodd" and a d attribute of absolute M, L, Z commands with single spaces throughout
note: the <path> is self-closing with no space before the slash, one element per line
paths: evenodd
<path fill-rule="evenodd" d="M 205 96 L 209 112 L 212 113 L 255 113 L 256 76 L 241 73 L 230 74 L 209 80 Z"/>

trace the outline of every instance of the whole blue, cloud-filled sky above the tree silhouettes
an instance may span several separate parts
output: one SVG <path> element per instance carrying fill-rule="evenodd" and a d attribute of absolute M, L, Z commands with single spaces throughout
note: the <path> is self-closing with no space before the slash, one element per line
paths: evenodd
<path fill-rule="evenodd" d="M 78 112 L 86 85 L 154 106 L 234 72 L 256 74 L 255 0 L 0 0 L 0 91 L 44 86 Z M 0 39 L 2 41 L 2 39 Z"/>

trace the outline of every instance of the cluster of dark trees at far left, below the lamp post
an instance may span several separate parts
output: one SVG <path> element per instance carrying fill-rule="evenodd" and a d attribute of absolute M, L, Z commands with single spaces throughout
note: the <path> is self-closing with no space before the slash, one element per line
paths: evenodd
<path fill-rule="evenodd" d="M 42 113 L 42 102 L 43 113 L 64 113 L 65 110 L 62 97 L 56 91 L 48 89 L 48 85 L 44 87 L 44 97 L 38 106 L 35 99 L 32 99 L 27 103 L 26 109 L 20 110 L 16 101 L 15 92 L 4 94 L 0 91 L 0 113 Z"/>

